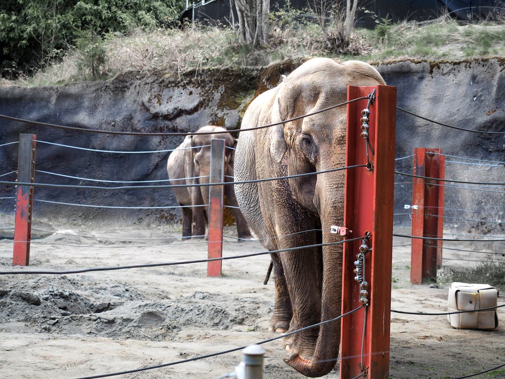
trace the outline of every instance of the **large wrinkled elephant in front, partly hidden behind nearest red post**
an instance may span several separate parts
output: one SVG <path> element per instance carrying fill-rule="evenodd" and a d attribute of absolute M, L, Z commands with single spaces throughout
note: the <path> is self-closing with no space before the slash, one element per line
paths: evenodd
<path fill-rule="evenodd" d="M 240 133 L 235 180 L 256 180 L 325 171 L 345 165 L 346 107 L 295 121 L 285 120 L 345 102 L 347 85 L 385 84 L 369 64 L 315 58 L 299 66 L 247 108 L 241 128 L 281 122 Z M 358 126 L 357 126 L 358 127 Z M 270 329 L 283 333 L 341 313 L 344 171 L 236 184 L 238 204 L 269 251 L 323 244 L 272 254 L 276 302 Z M 300 373 L 323 376 L 336 364 L 340 321 L 284 338 L 285 361 Z"/>

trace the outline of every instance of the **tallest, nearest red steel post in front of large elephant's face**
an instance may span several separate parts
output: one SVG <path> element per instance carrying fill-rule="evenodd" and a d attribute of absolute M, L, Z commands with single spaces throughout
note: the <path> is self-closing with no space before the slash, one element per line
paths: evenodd
<path fill-rule="evenodd" d="M 389 375 L 396 87 L 349 86 L 347 99 L 367 96 L 373 89 L 376 89 L 375 101 L 370 106 L 369 116 L 373 168 L 345 171 L 344 207 L 344 225 L 352 230 L 349 238 L 364 236 L 367 231 L 371 233 L 371 251 L 365 255 L 369 303 L 368 307 L 342 318 L 341 379 L 360 375 L 362 368 L 368 378 L 387 379 Z M 367 163 L 367 147 L 360 135 L 360 119 L 366 106 L 367 100 L 347 106 L 346 166 Z M 361 244 L 362 241 L 344 243 L 342 313 L 361 305 L 361 288 L 354 273 Z"/>

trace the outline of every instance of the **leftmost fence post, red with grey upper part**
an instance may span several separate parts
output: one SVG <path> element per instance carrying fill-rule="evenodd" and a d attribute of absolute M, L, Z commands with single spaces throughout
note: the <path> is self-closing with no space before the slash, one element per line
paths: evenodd
<path fill-rule="evenodd" d="M 33 183 L 35 171 L 35 134 L 19 135 L 18 182 Z M 13 266 L 28 266 L 30 262 L 33 187 L 18 185 L 14 219 Z"/>

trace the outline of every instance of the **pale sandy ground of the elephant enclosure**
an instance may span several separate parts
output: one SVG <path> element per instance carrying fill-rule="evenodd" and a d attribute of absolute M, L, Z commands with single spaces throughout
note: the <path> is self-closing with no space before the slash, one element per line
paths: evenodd
<path fill-rule="evenodd" d="M 82 227 L 38 227 L 59 233 L 34 233 L 28 268 L 11 266 L 12 239 L 2 239 L 0 270 L 68 270 L 207 257 L 206 244 L 181 243 L 177 227 L 93 232 Z M 233 236 L 233 230 L 226 234 Z M 224 256 L 264 251 L 258 242 L 227 240 Z M 401 246 L 406 243 L 393 241 L 397 246 L 391 308 L 445 311 L 448 286 L 410 285 L 410 247 Z M 444 257 L 461 256 L 444 252 Z M 221 277 L 207 277 L 206 263 L 67 275 L 0 275 L 0 377 L 111 374 L 274 337 L 267 329 L 274 287 L 272 281 L 263 285 L 269 260 L 268 255 L 226 260 Z M 503 303 L 500 296 L 498 304 Z M 505 363 L 504 308 L 498 310 L 498 318 L 498 329 L 479 331 L 453 329 L 446 316 L 393 313 L 389 377 L 452 378 Z M 283 362 L 286 352 L 279 340 L 262 346 L 265 379 L 304 377 Z M 241 359 L 239 350 L 114 377 L 217 378 L 232 372 Z M 338 376 L 333 371 L 326 377 Z M 505 367 L 478 377 L 505 378 Z"/>

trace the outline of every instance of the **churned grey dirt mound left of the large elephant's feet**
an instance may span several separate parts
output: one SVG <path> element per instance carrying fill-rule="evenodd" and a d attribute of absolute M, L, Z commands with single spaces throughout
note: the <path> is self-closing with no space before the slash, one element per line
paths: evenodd
<path fill-rule="evenodd" d="M 124 282 L 35 276 L 0 290 L 0 318 L 53 335 L 160 340 L 181 328 L 228 329 L 258 316 L 254 309 L 229 309 L 229 300 L 209 292 L 171 299 Z"/>

